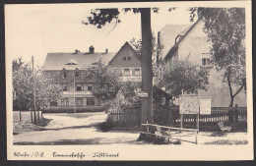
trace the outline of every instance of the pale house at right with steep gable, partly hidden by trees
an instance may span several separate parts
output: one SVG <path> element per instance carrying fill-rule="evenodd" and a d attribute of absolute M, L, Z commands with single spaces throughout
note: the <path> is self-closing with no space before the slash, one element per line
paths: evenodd
<path fill-rule="evenodd" d="M 212 107 L 227 107 L 230 102 L 229 89 L 227 83 L 222 82 L 223 73 L 217 72 L 215 66 L 211 64 L 212 43 L 203 28 L 204 22 L 201 19 L 187 27 L 166 25 L 159 32 L 160 44 L 165 48 L 160 59 L 170 68 L 177 60 L 188 60 L 201 68 L 210 69 L 209 89 L 199 90 L 200 98 L 211 99 Z M 234 104 L 240 107 L 246 106 L 245 88 L 235 96 Z"/>

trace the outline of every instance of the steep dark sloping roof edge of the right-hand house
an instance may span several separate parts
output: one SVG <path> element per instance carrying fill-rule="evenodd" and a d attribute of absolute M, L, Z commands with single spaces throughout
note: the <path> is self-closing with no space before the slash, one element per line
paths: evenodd
<path fill-rule="evenodd" d="M 167 54 L 166 54 L 166 55 L 164 56 L 164 58 L 163 58 L 164 61 L 166 61 L 168 58 L 170 58 L 170 57 L 173 55 L 173 53 L 177 50 L 179 43 L 186 37 L 186 35 L 191 31 L 191 29 L 193 29 L 193 28 L 199 23 L 199 21 L 201 21 L 201 20 L 202 20 L 202 19 L 199 18 L 199 19 L 196 21 L 196 23 L 194 23 L 190 28 L 187 28 L 186 30 L 183 30 L 181 33 L 178 34 L 178 35 L 181 36 L 181 38 L 178 40 L 178 42 L 177 42 L 175 45 L 173 45 L 173 46 L 169 49 L 169 51 L 167 52 Z M 173 38 L 173 40 L 174 40 L 174 39 L 175 39 L 175 38 Z"/>

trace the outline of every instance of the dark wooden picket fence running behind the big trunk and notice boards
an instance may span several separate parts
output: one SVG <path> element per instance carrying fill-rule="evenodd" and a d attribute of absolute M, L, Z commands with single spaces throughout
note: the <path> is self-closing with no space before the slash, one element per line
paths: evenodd
<path fill-rule="evenodd" d="M 231 117 L 231 119 L 229 119 Z M 126 110 L 122 112 L 110 111 L 108 120 L 114 127 L 134 127 L 141 125 L 141 111 Z M 184 128 L 196 128 L 196 115 L 184 115 Z M 209 129 L 218 122 L 231 122 L 247 124 L 246 107 L 212 107 L 211 115 L 200 115 L 200 127 Z M 154 111 L 154 122 L 163 126 L 180 126 L 180 114 L 178 107 L 164 108 Z"/>

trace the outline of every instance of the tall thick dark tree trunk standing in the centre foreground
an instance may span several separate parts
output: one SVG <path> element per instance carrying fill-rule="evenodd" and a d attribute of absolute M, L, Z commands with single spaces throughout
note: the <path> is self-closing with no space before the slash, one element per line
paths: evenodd
<path fill-rule="evenodd" d="M 148 93 L 148 97 L 142 98 L 141 123 L 154 123 L 153 116 L 153 70 L 152 70 L 152 30 L 151 8 L 140 8 L 141 31 L 142 31 L 142 91 Z M 144 128 L 142 127 L 142 131 Z M 144 131 L 145 132 L 145 131 Z M 150 132 L 151 133 L 151 132 Z M 153 135 L 141 134 L 137 140 L 151 141 Z"/>

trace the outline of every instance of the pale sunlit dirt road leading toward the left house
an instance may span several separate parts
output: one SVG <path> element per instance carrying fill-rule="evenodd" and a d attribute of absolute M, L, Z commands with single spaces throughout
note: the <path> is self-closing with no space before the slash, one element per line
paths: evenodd
<path fill-rule="evenodd" d="M 51 119 L 41 131 L 32 131 L 14 136 L 14 144 L 110 144 L 130 143 L 139 134 L 101 132 L 98 124 L 105 122 L 104 112 L 77 114 L 44 114 Z"/>

